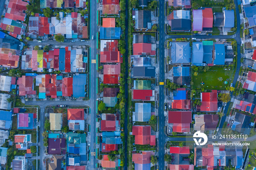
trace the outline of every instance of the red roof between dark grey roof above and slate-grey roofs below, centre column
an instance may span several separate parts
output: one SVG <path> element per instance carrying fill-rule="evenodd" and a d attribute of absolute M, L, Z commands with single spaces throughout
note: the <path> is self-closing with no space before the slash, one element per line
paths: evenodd
<path fill-rule="evenodd" d="M 155 51 L 151 51 L 151 46 L 149 43 L 133 44 L 133 55 L 155 55 Z"/>

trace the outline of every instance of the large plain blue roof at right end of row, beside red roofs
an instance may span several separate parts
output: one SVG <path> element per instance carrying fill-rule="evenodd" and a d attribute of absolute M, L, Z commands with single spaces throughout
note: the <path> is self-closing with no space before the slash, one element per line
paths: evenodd
<path fill-rule="evenodd" d="M 87 74 L 73 76 L 73 97 L 84 97 L 84 85 L 87 82 Z"/>

